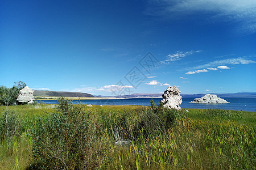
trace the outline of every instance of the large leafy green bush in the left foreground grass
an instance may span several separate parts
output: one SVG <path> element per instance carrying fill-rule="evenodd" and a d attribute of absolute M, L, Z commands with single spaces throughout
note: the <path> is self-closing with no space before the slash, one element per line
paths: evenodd
<path fill-rule="evenodd" d="M 61 98 L 57 112 L 36 122 L 33 158 L 36 169 L 84 169 L 95 165 L 98 129 L 84 106 Z"/>

